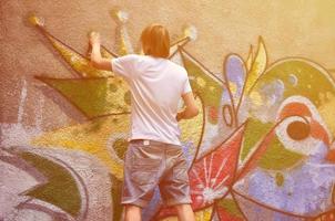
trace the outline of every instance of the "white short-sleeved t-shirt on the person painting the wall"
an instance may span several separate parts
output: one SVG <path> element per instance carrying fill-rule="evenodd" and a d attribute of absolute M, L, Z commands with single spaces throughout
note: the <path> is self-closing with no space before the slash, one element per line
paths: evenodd
<path fill-rule="evenodd" d="M 177 106 L 181 95 L 192 91 L 186 70 L 166 59 L 136 54 L 112 59 L 111 63 L 131 90 L 129 139 L 180 145 Z"/>

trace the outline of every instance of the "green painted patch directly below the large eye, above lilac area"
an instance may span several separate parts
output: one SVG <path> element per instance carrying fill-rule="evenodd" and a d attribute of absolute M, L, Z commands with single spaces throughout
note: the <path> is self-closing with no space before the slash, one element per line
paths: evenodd
<path fill-rule="evenodd" d="M 258 166 L 263 169 L 283 170 L 293 167 L 303 159 L 303 155 L 286 149 L 277 137 L 273 137 Z"/>

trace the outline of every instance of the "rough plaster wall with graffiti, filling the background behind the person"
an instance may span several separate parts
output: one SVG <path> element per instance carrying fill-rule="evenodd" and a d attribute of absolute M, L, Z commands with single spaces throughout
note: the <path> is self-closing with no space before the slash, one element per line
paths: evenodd
<path fill-rule="evenodd" d="M 170 30 L 197 220 L 335 220 L 335 2 L 1 1 L 0 220 L 121 220 L 130 92 L 87 60 Z M 176 220 L 155 194 L 144 220 Z"/>

